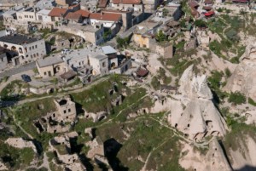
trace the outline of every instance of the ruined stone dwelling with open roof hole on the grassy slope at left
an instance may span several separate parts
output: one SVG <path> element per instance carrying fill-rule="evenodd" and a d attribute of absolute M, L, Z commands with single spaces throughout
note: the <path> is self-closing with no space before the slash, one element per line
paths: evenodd
<path fill-rule="evenodd" d="M 63 133 L 67 132 L 70 124 L 77 117 L 76 105 L 71 100 L 70 96 L 56 98 L 54 100 L 56 111 L 50 111 L 45 117 L 34 122 L 38 132 L 47 131 L 48 133 Z"/>

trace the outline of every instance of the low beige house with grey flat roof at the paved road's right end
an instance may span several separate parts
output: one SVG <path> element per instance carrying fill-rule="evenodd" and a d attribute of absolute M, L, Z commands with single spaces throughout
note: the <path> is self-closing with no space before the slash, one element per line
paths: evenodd
<path fill-rule="evenodd" d="M 52 77 L 55 74 L 65 73 L 67 67 L 59 56 L 50 56 L 36 61 L 38 72 L 41 77 Z"/>

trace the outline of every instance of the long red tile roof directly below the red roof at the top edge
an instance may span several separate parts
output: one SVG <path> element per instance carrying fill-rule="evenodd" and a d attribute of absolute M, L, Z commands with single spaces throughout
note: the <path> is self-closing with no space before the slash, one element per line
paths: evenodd
<path fill-rule="evenodd" d="M 90 19 L 95 20 L 110 20 L 110 21 L 119 21 L 121 20 L 121 14 L 111 14 L 111 13 L 91 13 Z"/>

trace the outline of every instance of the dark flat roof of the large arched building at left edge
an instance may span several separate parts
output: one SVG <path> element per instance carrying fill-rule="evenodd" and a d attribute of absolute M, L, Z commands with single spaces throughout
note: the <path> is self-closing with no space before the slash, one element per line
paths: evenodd
<path fill-rule="evenodd" d="M 0 42 L 4 43 L 13 43 L 13 44 L 25 44 L 25 43 L 34 43 L 39 39 L 36 37 L 27 37 L 25 35 L 15 34 L 0 37 Z"/>

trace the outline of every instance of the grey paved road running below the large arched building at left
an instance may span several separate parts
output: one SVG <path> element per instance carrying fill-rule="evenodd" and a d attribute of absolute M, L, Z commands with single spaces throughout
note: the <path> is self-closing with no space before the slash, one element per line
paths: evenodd
<path fill-rule="evenodd" d="M 32 62 L 23 66 L 18 66 L 16 68 L 10 69 L 9 71 L 3 71 L 0 73 L 0 77 L 13 76 L 20 72 L 32 70 L 33 68 L 36 68 L 36 67 L 37 67 L 36 62 Z"/>

